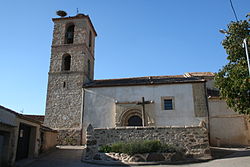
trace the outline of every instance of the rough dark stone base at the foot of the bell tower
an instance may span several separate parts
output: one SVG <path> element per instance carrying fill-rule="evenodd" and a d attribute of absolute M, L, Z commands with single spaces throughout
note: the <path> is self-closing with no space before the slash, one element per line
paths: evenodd
<path fill-rule="evenodd" d="M 81 145 L 81 129 L 59 129 L 57 131 L 58 145 Z"/>

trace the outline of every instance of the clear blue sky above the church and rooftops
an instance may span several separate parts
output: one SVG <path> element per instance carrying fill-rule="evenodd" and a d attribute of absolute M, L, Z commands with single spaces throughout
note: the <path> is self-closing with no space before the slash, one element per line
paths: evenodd
<path fill-rule="evenodd" d="M 249 0 L 233 0 L 239 19 Z M 0 105 L 44 114 L 56 10 L 88 14 L 98 33 L 95 79 L 217 72 L 226 63 L 229 0 L 8 0 L 0 5 Z"/>

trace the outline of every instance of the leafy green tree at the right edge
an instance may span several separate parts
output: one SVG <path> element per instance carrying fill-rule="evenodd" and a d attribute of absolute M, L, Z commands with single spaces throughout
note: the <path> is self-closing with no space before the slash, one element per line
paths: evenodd
<path fill-rule="evenodd" d="M 215 85 L 220 96 L 234 111 L 250 115 L 250 77 L 243 39 L 250 45 L 250 24 L 247 20 L 231 22 L 222 45 L 229 60 L 215 75 Z"/>

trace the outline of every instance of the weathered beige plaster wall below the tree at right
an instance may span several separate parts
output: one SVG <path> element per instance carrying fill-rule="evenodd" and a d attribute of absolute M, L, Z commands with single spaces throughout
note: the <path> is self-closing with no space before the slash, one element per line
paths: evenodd
<path fill-rule="evenodd" d="M 228 108 L 224 100 L 209 99 L 210 142 L 213 146 L 249 146 L 250 123 L 247 116 Z"/>

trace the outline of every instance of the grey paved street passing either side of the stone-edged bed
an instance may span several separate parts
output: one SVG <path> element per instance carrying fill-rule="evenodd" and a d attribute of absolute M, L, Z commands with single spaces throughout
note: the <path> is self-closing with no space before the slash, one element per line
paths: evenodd
<path fill-rule="evenodd" d="M 82 163 L 80 161 L 82 149 L 83 147 L 61 147 L 40 157 L 27 167 L 101 167 L 101 165 Z M 234 153 L 224 158 L 209 162 L 184 165 L 154 165 L 154 167 L 250 167 L 250 150 L 234 151 Z"/>

